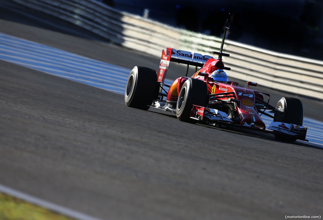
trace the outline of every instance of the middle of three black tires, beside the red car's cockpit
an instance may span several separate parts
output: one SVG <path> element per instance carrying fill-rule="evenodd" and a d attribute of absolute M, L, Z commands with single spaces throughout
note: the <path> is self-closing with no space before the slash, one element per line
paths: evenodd
<path fill-rule="evenodd" d="M 176 116 L 180 121 L 196 123 L 190 119 L 193 105 L 205 106 L 208 104 L 208 88 L 204 81 L 199 79 L 187 79 L 180 91 L 176 104 Z"/>

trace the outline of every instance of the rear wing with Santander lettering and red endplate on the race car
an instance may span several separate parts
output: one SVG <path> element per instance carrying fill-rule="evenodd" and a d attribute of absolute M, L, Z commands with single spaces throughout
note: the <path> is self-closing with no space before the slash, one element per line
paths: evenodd
<path fill-rule="evenodd" d="M 175 50 L 173 48 L 167 47 L 166 51 L 162 50 L 161 62 L 158 71 L 158 82 L 164 82 L 164 78 L 170 62 L 187 64 L 188 70 L 189 65 L 196 66 L 196 68 L 202 67 L 205 64 L 205 62 L 210 58 L 213 57 L 198 53 L 192 53 L 184 50 Z"/>

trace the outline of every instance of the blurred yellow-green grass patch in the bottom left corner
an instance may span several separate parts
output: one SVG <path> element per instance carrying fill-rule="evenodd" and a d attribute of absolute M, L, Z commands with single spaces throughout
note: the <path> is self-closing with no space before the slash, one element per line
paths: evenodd
<path fill-rule="evenodd" d="M 72 220 L 46 208 L 0 193 L 1 220 Z"/>

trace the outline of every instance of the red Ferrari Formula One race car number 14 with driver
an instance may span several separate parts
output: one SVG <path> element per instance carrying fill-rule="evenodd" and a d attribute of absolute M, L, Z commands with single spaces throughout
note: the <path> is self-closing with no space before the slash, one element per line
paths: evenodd
<path fill-rule="evenodd" d="M 135 66 L 126 85 L 126 105 L 170 111 L 184 122 L 252 129 L 287 142 L 306 141 L 307 127 L 302 126 L 303 105 L 299 99 L 282 97 L 274 107 L 269 104 L 269 94 L 249 88 L 257 83 L 240 86 L 228 80 L 224 70 L 230 68 L 222 61 L 222 56 L 229 56 L 222 52 L 226 29 L 220 52 L 212 51 L 217 58 L 167 47 L 162 51 L 158 74 L 153 69 Z M 170 62 L 186 64 L 187 71 L 185 77 L 166 85 L 164 79 Z M 196 73 L 191 77 L 187 77 L 189 65 L 196 66 Z M 197 67 L 201 68 L 197 71 Z M 268 129 L 260 117 L 262 114 L 273 118 Z"/>

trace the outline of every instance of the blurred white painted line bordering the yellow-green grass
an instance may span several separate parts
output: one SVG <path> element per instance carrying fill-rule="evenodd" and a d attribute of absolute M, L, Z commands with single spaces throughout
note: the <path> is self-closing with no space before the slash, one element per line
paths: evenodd
<path fill-rule="evenodd" d="M 63 206 L 56 205 L 56 204 L 51 203 L 51 202 L 47 202 L 47 201 L 45 201 L 43 199 L 39 199 L 39 198 L 34 197 L 32 195 L 22 193 L 22 192 L 20 192 L 18 190 L 9 188 L 9 187 L 7 187 L 5 185 L 2 185 L 2 184 L 0 184 L 0 192 L 2 192 L 4 194 L 11 195 L 11 196 L 14 196 L 14 197 L 16 197 L 18 199 L 21 199 L 21 200 L 24 200 L 26 202 L 45 207 L 45 208 L 47 208 L 49 210 L 52 210 L 54 212 L 57 212 L 57 213 L 60 213 L 60 214 L 63 214 L 63 215 L 66 215 L 68 217 L 75 218 L 75 219 L 78 219 L 78 220 L 101 220 L 99 218 L 95 218 L 95 217 L 92 217 L 92 216 L 89 216 L 89 215 L 74 211 L 72 209 L 68 209 L 68 208 L 65 208 Z"/>

